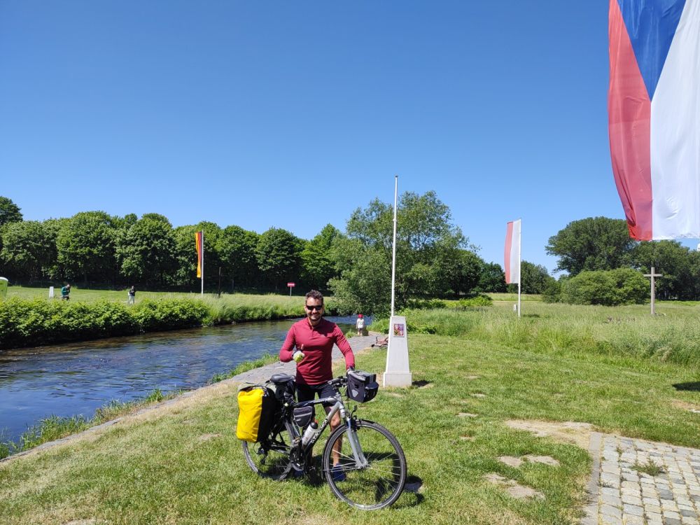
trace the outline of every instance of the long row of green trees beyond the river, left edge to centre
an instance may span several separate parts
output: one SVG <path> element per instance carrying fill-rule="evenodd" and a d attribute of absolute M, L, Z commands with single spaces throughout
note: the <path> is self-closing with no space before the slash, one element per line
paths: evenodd
<path fill-rule="evenodd" d="M 330 291 L 341 311 L 386 311 L 391 302 L 393 208 L 379 200 L 356 209 L 345 232 L 329 224 L 306 240 L 283 228 L 262 234 L 210 222 L 174 228 L 160 214 L 139 218 L 83 211 L 24 221 L 20 208 L 0 197 L 1 272 L 14 283 L 196 290 L 195 232 L 200 230 L 209 290 L 218 288 L 220 279 L 225 292 L 281 290 L 294 281 L 302 289 Z M 434 192 L 400 197 L 396 260 L 398 307 L 416 298 L 506 290 L 503 269 L 477 255 Z"/>

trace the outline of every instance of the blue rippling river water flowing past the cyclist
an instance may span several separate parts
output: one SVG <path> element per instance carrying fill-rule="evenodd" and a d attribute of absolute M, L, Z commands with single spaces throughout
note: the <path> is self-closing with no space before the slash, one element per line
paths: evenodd
<path fill-rule="evenodd" d="M 343 332 L 355 318 L 328 317 Z M 111 400 L 191 390 L 264 353 L 277 353 L 294 320 L 240 323 L 0 351 L 0 442 L 40 419 L 90 417 Z"/>

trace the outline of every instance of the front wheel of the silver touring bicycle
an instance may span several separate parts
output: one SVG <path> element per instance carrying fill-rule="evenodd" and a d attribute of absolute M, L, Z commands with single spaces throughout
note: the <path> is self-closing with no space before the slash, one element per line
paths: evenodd
<path fill-rule="evenodd" d="M 358 509 L 376 510 L 391 505 L 406 484 L 406 456 L 401 445 L 391 432 L 372 421 L 358 419 L 352 431 L 367 465 L 356 465 L 347 426 L 336 428 L 323 449 L 323 472 L 330 489 Z"/>

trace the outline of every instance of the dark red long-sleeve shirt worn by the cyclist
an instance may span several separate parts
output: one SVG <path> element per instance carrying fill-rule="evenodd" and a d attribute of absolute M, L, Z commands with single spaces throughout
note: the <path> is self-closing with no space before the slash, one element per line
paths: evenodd
<path fill-rule="evenodd" d="M 287 332 L 287 337 L 279 351 L 279 360 L 287 363 L 292 360 L 292 354 L 295 351 L 301 350 L 304 352 L 304 360 L 297 363 L 297 383 L 322 384 L 333 379 L 334 343 L 343 353 L 345 366 L 355 366 L 355 356 L 350 344 L 337 324 L 321 318 L 316 326 L 311 326 L 309 320 L 303 318 L 294 323 Z"/>

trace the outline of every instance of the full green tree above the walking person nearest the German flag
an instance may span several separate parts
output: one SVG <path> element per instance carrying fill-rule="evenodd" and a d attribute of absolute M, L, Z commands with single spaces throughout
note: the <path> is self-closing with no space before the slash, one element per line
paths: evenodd
<path fill-rule="evenodd" d="M 145 214 L 120 231 L 116 255 L 120 273 L 128 283 L 162 286 L 175 269 L 170 221 L 160 214 Z"/>

